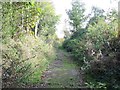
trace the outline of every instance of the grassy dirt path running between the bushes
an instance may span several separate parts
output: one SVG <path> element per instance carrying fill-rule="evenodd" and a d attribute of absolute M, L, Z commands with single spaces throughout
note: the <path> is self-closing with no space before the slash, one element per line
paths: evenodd
<path fill-rule="evenodd" d="M 72 57 L 59 50 L 57 59 L 51 63 L 43 74 L 42 88 L 79 88 L 83 86 L 83 76 Z"/>

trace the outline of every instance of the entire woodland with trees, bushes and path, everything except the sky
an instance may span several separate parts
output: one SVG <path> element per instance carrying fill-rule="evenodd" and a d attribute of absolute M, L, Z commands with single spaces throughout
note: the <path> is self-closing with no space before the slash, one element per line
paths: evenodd
<path fill-rule="evenodd" d="M 118 12 L 72 0 L 69 30 L 56 35 L 52 2 L 0 2 L 2 88 L 120 88 Z M 86 25 L 85 25 L 86 24 Z M 113 89 L 111 89 L 113 88 Z"/>

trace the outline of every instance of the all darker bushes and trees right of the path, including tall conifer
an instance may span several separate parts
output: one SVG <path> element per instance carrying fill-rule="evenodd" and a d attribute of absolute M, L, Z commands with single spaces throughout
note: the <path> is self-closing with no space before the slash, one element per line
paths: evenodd
<path fill-rule="evenodd" d="M 84 4 L 73 0 L 68 10 L 71 36 L 63 48 L 72 53 L 85 72 L 86 85 L 92 88 L 120 86 L 120 39 L 117 37 L 117 11 L 93 7 L 88 16 Z M 82 27 L 85 23 L 86 27 Z"/>

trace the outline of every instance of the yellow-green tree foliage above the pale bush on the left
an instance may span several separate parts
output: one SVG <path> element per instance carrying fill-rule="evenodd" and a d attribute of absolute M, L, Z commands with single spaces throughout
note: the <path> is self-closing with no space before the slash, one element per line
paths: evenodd
<path fill-rule="evenodd" d="M 59 16 L 49 2 L 5 2 L 3 7 L 3 38 L 20 36 L 25 32 L 35 33 L 36 22 L 39 21 L 39 36 L 53 35 Z M 8 30 L 9 28 L 9 30 Z M 44 37 L 44 38 L 45 38 Z"/>

